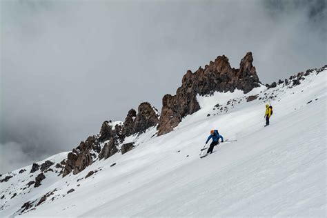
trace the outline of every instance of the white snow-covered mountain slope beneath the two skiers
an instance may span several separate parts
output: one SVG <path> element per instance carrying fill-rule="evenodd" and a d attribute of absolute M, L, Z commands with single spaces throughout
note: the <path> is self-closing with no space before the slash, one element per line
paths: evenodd
<path fill-rule="evenodd" d="M 1 199 L 0 216 L 19 215 L 26 201 L 56 189 L 53 200 L 21 216 L 326 217 L 326 71 L 313 72 L 292 88 L 281 84 L 247 95 L 236 90 L 198 97 L 201 110 L 173 132 L 153 137 L 151 128 L 126 139 L 137 147 L 124 155 Z M 259 98 L 246 102 L 250 95 Z M 274 113 L 264 128 L 268 99 Z M 237 141 L 221 143 L 200 159 L 213 128 Z M 98 171 L 85 179 L 90 170 Z M 26 177 L 16 171 L 1 183 L 1 195 Z M 67 194 L 71 188 L 75 191 Z"/>

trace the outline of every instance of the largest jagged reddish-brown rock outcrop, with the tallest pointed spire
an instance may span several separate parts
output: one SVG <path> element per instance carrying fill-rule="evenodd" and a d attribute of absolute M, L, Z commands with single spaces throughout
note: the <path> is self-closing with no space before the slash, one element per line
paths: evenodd
<path fill-rule="evenodd" d="M 165 95 L 162 99 L 158 135 L 164 135 L 175 128 L 183 117 L 200 109 L 197 95 L 211 95 L 213 92 L 234 92 L 235 89 L 250 92 L 259 87 L 260 81 L 252 66 L 252 53 L 241 59 L 239 69 L 231 68 L 226 56 L 210 61 L 205 68 L 192 73 L 186 72 L 176 95 Z"/>

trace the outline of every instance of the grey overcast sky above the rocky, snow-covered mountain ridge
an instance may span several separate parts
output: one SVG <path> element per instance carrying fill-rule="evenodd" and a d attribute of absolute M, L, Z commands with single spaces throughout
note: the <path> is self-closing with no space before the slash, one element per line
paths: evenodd
<path fill-rule="evenodd" d="M 1 1 L 1 172 L 161 110 L 190 69 L 252 51 L 271 83 L 326 64 L 326 1 Z"/>

